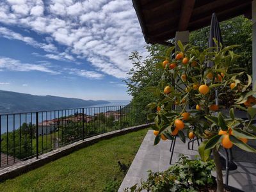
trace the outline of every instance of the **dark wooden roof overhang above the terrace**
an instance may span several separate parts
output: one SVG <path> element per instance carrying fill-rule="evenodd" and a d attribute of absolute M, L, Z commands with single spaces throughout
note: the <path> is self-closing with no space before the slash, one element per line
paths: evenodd
<path fill-rule="evenodd" d="M 169 45 L 176 31 L 195 31 L 211 24 L 212 13 L 223 21 L 252 18 L 252 0 L 132 0 L 147 44 Z"/>

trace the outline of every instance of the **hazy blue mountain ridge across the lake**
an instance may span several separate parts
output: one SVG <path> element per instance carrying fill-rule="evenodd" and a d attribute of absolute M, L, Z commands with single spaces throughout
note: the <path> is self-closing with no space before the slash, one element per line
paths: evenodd
<path fill-rule="evenodd" d="M 0 113 L 2 114 L 83 108 L 108 103 L 109 102 L 106 100 L 83 100 L 51 95 L 30 95 L 0 90 Z"/>

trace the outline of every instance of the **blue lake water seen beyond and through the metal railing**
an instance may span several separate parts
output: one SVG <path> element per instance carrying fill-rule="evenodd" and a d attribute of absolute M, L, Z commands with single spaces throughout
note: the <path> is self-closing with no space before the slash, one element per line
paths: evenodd
<path fill-rule="evenodd" d="M 98 104 L 93 106 L 86 106 L 84 113 L 86 115 L 94 115 L 95 113 L 104 113 L 106 111 L 117 111 L 130 103 L 129 100 L 108 100 L 108 104 Z M 38 113 L 38 122 L 60 118 L 61 116 L 74 115 L 75 113 L 82 113 L 82 109 L 67 109 L 57 111 L 47 111 Z M 1 115 L 1 134 L 19 129 L 22 124 L 36 124 L 36 113 L 22 113 L 15 115 Z"/>

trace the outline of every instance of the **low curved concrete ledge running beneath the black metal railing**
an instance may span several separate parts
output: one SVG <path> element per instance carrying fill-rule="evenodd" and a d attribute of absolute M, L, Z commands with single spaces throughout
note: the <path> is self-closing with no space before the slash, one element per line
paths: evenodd
<path fill-rule="evenodd" d="M 17 177 L 22 173 L 26 173 L 29 170 L 33 170 L 40 166 L 43 166 L 46 163 L 59 159 L 60 157 L 67 156 L 68 154 L 74 152 L 75 150 L 79 150 L 81 148 L 93 145 L 101 140 L 106 140 L 109 138 L 113 138 L 114 136 L 120 136 L 122 134 L 126 134 L 132 131 L 138 131 L 140 129 L 145 129 L 150 124 L 143 124 L 134 127 L 128 127 L 125 129 L 119 129 L 116 131 L 106 132 L 103 134 L 99 134 L 97 136 L 92 136 L 90 138 L 86 138 L 81 141 L 76 141 L 64 147 L 57 148 L 52 150 L 51 152 L 42 154 L 36 159 L 36 157 L 32 159 L 28 159 L 26 161 L 21 161 L 19 163 L 13 164 L 12 166 L 8 166 L 0 170 L 0 182 L 3 182 L 6 179 L 12 179 L 13 177 Z"/>

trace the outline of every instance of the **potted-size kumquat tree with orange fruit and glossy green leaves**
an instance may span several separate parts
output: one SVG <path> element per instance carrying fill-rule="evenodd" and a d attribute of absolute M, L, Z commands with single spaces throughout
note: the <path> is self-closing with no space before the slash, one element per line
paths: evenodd
<path fill-rule="evenodd" d="M 216 40 L 215 43 L 218 45 Z M 175 47 L 170 47 L 166 56 L 158 58 L 161 62 L 157 63 L 157 70 L 163 71 L 161 81 L 159 86 L 149 89 L 156 96 L 156 102 L 148 104 L 148 108 L 156 110 L 148 115 L 148 119 L 155 122 L 152 125 L 156 135 L 154 145 L 160 140 L 173 140 L 174 136 L 185 143 L 184 132 L 190 139 L 202 138 L 204 141 L 198 148 L 200 157 L 207 161 L 213 154 L 217 191 L 223 191 L 220 147 L 236 145 L 247 152 L 256 152 L 246 144 L 248 140 L 256 140 L 252 134 L 256 132 L 252 125 L 256 115 L 256 108 L 253 108 L 256 99 L 250 90 L 252 77 L 243 71 L 236 72 L 241 68 L 232 67 L 239 58 L 232 49 L 238 45 L 220 45 L 204 51 L 181 42 L 177 45 L 180 51 L 172 54 Z M 213 63 L 212 67 L 207 67 L 209 62 Z M 215 98 L 216 91 L 218 95 L 225 94 L 227 88 L 236 93 L 229 115 L 221 113 Z M 246 111 L 249 120 L 237 118 L 234 109 Z"/>

